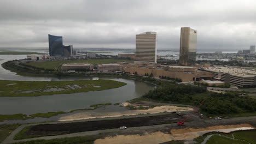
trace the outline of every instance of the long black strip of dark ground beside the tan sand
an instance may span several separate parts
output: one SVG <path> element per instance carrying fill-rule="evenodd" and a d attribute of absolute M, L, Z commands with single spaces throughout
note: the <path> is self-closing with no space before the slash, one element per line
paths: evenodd
<path fill-rule="evenodd" d="M 140 127 L 147 125 L 157 125 L 166 123 L 178 122 L 176 114 L 137 117 L 137 118 L 124 118 L 124 119 L 109 119 L 103 121 L 88 121 L 88 122 L 74 122 L 74 123 L 61 123 L 61 124 L 40 124 L 34 125 L 27 131 L 27 135 L 60 135 L 69 133 L 78 133 L 82 131 L 114 129 L 125 126 Z"/>

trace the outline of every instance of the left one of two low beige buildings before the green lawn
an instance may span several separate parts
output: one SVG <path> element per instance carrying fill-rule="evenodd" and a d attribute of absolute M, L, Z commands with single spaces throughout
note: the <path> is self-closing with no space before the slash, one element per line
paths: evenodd
<path fill-rule="evenodd" d="M 89 63 L 66 63 L 61 65 L 62 71 L 75 70 L 75 71 L 86 71 L 92 70 L 93 65 Z"/>

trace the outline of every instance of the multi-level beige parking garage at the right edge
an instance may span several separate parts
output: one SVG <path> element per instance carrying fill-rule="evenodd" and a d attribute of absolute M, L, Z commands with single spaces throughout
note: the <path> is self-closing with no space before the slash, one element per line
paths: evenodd
<path fill-rule="evenodd" d="M 235 67 L 211 67 L 204 71 L 213 73 L 214 79 L 237 87 L 251 87 L 256 85 L 256 71 L 254 69 L 243 69 Z"/>

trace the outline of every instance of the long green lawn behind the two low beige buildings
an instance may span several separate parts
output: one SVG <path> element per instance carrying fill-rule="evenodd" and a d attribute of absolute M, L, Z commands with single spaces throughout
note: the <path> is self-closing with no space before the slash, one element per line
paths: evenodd
<path fill-rule="evenodd" d="M 133 62 L 123 59 L 79 59 L 79 60 L 67 60 L 67 61 L 46 61 L 46 62 L 31 62 L 27 65 L 32 65 L 38 68 L 44 69 L 60 69 L 64 63 L 90 63 L 90 64 L 102 64 L 102 63 L 117 63 L 117 62 Z"/>

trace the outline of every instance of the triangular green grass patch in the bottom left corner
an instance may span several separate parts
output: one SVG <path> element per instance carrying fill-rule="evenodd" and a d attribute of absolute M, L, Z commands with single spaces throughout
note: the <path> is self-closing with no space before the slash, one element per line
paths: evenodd
<path fill-rule="evenodd" d="M 20 124 L 1 124 L 0 125 L 0 143 L 19 126 Z"/>

